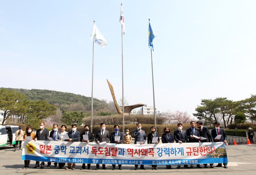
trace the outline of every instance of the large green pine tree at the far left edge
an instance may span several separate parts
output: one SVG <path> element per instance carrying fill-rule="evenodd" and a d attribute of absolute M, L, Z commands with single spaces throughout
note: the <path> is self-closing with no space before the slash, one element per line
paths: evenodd
<path fill-rule="evenodd" d="M 4 111 L 2 123 L 11 115 L 22 115 L 26 112 L 25 95 L 16 91 L 0 89 L 0 110 Z"/>

